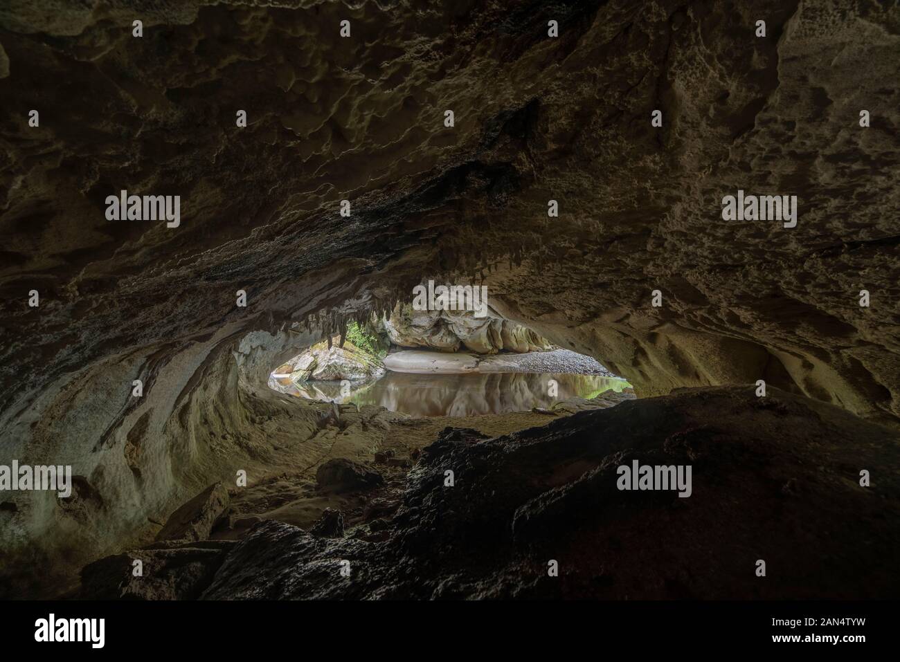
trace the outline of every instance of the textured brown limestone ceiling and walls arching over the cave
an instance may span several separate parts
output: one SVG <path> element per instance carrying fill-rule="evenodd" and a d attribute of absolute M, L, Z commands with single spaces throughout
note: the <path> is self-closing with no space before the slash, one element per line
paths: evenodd
<path fill-rule="evenodd" d="M 320 461 L 334 415 L 269 371 L 432 277 L 642 397 L 764 379 L 896 429 L 898 62 L 875 0 L 0 4 L 0 461 L 76 474 L 4 494 L 0 567 Z M 797 227 L 724 221 L 739 189 Z"/>

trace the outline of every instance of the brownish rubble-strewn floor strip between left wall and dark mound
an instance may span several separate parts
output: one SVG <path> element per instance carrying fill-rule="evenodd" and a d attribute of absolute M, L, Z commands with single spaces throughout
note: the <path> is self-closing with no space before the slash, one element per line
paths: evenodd
<path fill-rule="evenodd" d="M 214 559 L 229 550 L 232 541 L 243 539 L 257 524 L 287 523 L 316 530 L 336 517 L 341 530 L 361 540 L 383 540 L 387 520 L 401 503 L 406 479 L 418 463 L 422 449 L 456 429 L 483 438 L 500 437 L 577 411 L 610 407 L 634 398 L 632 391 L 608 391 L 597 398 L 569 398 L 552 410 L 534 409 L 491 416 L 431 416 L 410 418 L 383 407 L 326 406 L 303 403 L 296 407 L 322 414 L 319 427 L 302 441 L 316 449 L 316 459 L 299 471 L 272 474 L 247 488 L 212 484 L 170 515 L 165 525 L 153 522 L 144 539 L 123 554 L 100 559 L 82 571 L 83 586 L 69 577 L 68 597 L 93 599 L 144 598 L 184 599 L 200 595 L 208 584 L 197 576 L 211 578 L 218 567 Z M 290 410 L 288 410 L 290 412 Z M 260 421 L 262 422 L 262 421 Z M 296 430 L 284 438 L 292 417 L 268 417 L 268 433 L 277 443 L 296 442 Z M 226 433 L 227 434 L 227 433 Z M 275 443 L 275 449 L 278 445 Z M 323 466 L 328 469 L 322 470 Z M 329 472 L 330 471 L 330 472 Z M 211 550 L 215 550 L 213 554 Z M 134 559 L 152 559 L 150 581 L 146 577 L 131 585 Z M 206 560 L 203 560 L 206 559 Z M 202 561 L 198 565 L 198 560 Z M 207 560 L 213 561 L 209 567 Z M 125 566 L 127 565 L 127 568 Z M 122 569 L 125 568 L 125 569 Z M 190 582 L 185 585 L 185 577 Z M 199 583 L 198 583 L 199 582 Z M 31 586 L 34 590 L 37 586 Z"/>

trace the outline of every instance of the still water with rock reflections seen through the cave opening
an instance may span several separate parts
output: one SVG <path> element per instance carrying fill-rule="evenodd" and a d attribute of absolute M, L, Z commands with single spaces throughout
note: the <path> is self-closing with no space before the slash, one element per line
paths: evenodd
<path fill-rule="evenodd" d="M 557 392 L 550 395 L 550 380 Z M 274 383 L 273 383 L 274 382 Z M 391 411 L 422 416 L 481 416 L 532 407 L 549 408 L 567 398 L 594 398 L 605 390 L 629 388 L 615 377 L 524 372 L 469 372 L 465 374 L 410 374 L 391 372 L 374 382 L 356 382 L 341 395 L 338 381 L 311 381 L 303 389 L 290 380 L 271 380 L 276 390 L 314 400 L 379 405 Z"/>

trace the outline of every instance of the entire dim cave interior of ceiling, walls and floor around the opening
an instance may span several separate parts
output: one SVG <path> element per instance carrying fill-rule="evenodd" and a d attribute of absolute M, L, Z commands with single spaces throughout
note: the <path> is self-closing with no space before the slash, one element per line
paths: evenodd
<path fill-rule="evenodd" d="M 277 5 L 0 7 L 0 593 L 898 594 L 896 4 Z M 270 387 L 428 281 L 629 388 Z"/>

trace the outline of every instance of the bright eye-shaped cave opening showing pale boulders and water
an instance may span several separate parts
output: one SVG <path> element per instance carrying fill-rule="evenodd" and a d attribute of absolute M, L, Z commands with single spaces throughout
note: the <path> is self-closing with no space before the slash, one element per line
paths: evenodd
<path fill-rule="evenodd" d="M 268 385 L 305 400 L 411 417 L 589 408 L 608 391 L 633 392 L 594 358 L 493 310 L 479 317 L 405 304 L 304 347 L 271 371 Z"/>

